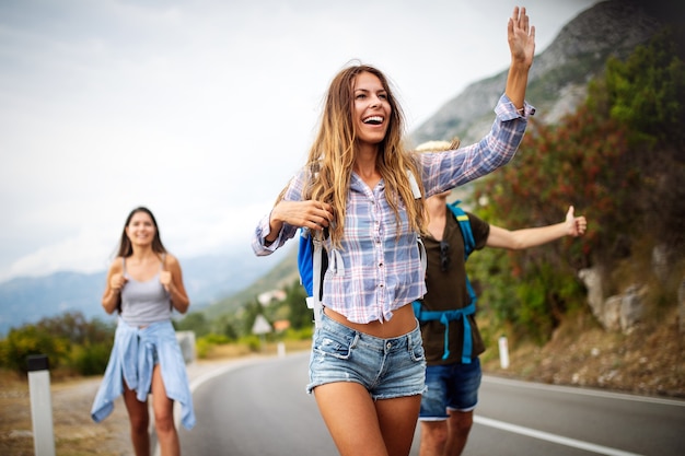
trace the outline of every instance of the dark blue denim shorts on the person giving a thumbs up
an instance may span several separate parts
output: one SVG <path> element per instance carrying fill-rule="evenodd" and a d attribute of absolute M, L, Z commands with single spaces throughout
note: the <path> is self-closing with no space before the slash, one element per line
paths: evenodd
<path fill-rule="evenodd" d="M 478 404 L 480 387 L 480 360 L 471 364 L 453 363 L 429 365 L 426 369 L 428 390 L 421 397 L 419 420 L 442 421 L 448 419 L 448 409 L 472 411 Z"/>

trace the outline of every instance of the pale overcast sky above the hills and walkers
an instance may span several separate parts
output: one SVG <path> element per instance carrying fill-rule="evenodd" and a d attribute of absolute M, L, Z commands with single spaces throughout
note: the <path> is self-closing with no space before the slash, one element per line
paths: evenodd
<path fill-rule="evenodd" d="M 537 52 L 594 3 L 521 3 Z M 411 131 L 508 68 L 515 4 L 2 0 L 0 281 L 106 269 L 141 204 L 182 265 L 253 255 L 346 62 L 387 74 Z"/>

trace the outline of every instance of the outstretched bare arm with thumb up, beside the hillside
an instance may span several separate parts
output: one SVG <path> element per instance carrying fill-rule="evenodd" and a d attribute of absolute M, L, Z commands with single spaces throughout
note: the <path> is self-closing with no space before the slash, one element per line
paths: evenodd
<path fill-rule="evenodd" d="M 573 207 L 569 207 L 566 220 L 554 225 L 509 231 L 490 225 L 490 234 L 486 246 L 520 250 L 547 244 L 564 236 L 581 236 L 585 234 L 588 222 L 584 217 L 573 217 Z"/>

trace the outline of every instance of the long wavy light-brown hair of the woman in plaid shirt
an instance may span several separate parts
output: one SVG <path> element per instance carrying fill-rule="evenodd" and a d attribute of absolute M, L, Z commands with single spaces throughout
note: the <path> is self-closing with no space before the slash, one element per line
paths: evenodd
<path fill-rule="evenodd" d="M 387 132 L 379 144 L 376 157 L 378 171 L 385 182 L 387 202 L 395 213 L 398 225 L 402 200 L 411 230 L 418 233 L 426 232 L 423 185 L 414 155 L 403 145 L 402 108 L 392 94 L 387 79 L 380 70 L 368 65 L 352 65 L 342 69 L 328 87 L 318 132 L 306 162 L 311 180 L 303 195 L 303 199 L 327 202 L 333 207 L 334 223 L 329 227 L 329 235 L 333 245 L 338 247 L 345 231 L 347 194 L 356 159 L 357 130 L 352 121 L 355 81 L 362 72 L 379 78 L 392 108 Z M 414 197 L 408 172 L 416 177 L 421 198 Z M 281 197 L 282 192 L 279 199 Z"/>

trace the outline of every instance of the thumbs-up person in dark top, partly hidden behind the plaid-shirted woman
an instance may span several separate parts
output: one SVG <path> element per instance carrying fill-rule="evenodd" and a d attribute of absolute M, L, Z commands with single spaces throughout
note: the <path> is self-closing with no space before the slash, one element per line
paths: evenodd
<path fill-rule="evenodd" d="M 458 142 L 442 145 L 456 149 Z M 430 233 L 423 238 L 428 292 L 415 303 L 428 364 L 428 390 L 421 398 L 419 416 L 421 456 L 462 454 L 478 401 L 481 376 L 478 355 L 485 351 L 474 316 L 475 295 L 466 278 L 464 234 L 446 201 L 450 192 L 426 201 Z M 490 225 L 468 212 L 464 215 L 468 223 L 464 229 L 473 233 L 475 249 L 485 246 L 524 249 L 564 236 L 576 237 L 587 229 L 585 218 L 574 217 L 572 206 L 564 222 L 516 231 Z M 460 217 L 463 222 L 464 215 Z"/>

